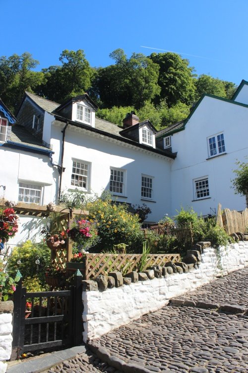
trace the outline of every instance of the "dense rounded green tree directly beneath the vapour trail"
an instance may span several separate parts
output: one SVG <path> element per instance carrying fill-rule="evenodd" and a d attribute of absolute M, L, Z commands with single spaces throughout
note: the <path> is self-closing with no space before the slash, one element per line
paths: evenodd
<path fill-rule="evenodd" d="M 182 59 L 177 53 L 152 53 L 150 59 L 160 67 L 158 84 L 160 95 L 156 96 L 155 103 L 164 99 L 169 107 L 177 102 L 189 105 L 195 99 L 195 85 L 193 67 L 188 66 L 189 61 Z"/>

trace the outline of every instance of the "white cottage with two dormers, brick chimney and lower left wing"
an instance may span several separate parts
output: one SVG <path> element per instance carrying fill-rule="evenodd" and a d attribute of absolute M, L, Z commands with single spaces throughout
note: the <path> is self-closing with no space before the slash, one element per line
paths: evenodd
<path fill-rule="evenodd" d="M 0 147 L 1 159 L 8 160 L 0 165 L 5 199 L 44 205 L 58 201 L 66 189 L 98 195 L 110 190 L 130 208 L 149 206 L 150 222 L 171 214 L 170 175 L 176 155 L 156 146 L 157 131 L 149 120 L 139 122 L 131 112 L 119 127 L 96 118 L 96 109 L 87 94 L 60 105 L 25 93 L 18 123 Z M 31 229 L 29 219 L 25 227 Z"/>

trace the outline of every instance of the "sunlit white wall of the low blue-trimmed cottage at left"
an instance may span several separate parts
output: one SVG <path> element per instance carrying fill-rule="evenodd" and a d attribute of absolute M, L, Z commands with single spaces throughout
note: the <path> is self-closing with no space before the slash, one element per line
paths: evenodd
<path fill-rule="evenodd" d="M 0 185 L 6 187 L 5 191 L 0 188 L 0 205 L 2 197 L 18 201 L 19 182 L 41 185 L 41 204 L 54 201 L 58 171 L 51 166 L 49 157 L 0 147 L 0 160 Z M 38 233 L 43 222 L 41 218 L 19 215 L 18 232 L 8 241 L 7 246 L 12 248 L 27 239 L 40 242 Z"/>

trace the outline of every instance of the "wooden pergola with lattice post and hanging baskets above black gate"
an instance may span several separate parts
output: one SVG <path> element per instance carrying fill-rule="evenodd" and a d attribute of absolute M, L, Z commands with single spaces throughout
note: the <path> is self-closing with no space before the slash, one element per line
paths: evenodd
<path fill-rule="evenodd" d="M 5 207 L 6 200 L 1 200 L 1 206 Z M 62 206 L 55 206 L 53 211 L 47 208 L 47 205 L 38 205 L 36 203 L 18 202 L 13 207 L 17 215 L 34 216 L 34 217 L 49 217 L 53 212 L 61 214 L 61 230 L 66 230 L 70 223 L 73 221 L 75 215 L 88 215 L 89 211 L 75 209 L 69 210 Z M 52 263 L 60 263 L 66 265 L 72 258 L 72 243 L 68 239 L 66 242 L 65 250 L 51 250 Z"/>

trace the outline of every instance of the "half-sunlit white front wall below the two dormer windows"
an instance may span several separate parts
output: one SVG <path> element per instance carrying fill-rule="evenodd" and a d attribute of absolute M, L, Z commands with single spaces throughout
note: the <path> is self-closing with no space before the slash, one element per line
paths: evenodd
<path fill-rule="evenodd" d="M 59 124 L 59 123 L 58 123 Z M 54 160 L 61 162 L 60 141 L 61 127 L 53 126 L 52 144 Z M 72 160 L 91 164 L 90 192 L 100 195 L 109 189 L 110 168 L 126 170 L 125 196 L 118 196 L 119 201 L 142 204 L 152 210 L 149 221 L 158 221 L 171 212 L 171 161 L 169 158 L 144 151 L 107 136 L 89 133 L 86 130 L 68 126 L 65 132 L 62 189 L 71 186 Z M 152 201 L 141 198 L 141 174 L 153 178 Z M 80 189 L 80 188 L 79 188 Z M 83 189 L 82 189 L 83 190 Z"/>

